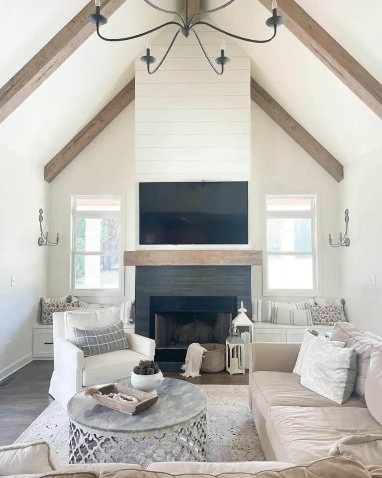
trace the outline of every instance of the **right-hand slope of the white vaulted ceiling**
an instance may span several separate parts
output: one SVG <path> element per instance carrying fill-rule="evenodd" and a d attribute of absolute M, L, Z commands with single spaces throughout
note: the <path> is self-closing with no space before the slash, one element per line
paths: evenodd
<path fill-rule="evenodd" d="M 299 3 L 333 36 L 336 28 L 341 26 L 344 31 L 337 34 L 337 40 L 344 40 L 349 53 L 357 55 L 356 59 L 361 64 L 364 56 L 371 54 L 369 48 L 374 52 L 373 56 L 377 56 L 378 46 L 375 43 L 379 38 L 377 45 L 380 44 L 382 37 L 378 25 L 360 23 L 358 36 L 364 39 L 362 47 L 358 46 L 358 40 L 350 30 L 357 28 L 356 19 L 361 18 L 360 10 L 366 9 L 370 13 L 369 8 L 373 10 L 375 6 L 374 13 L 379 11 L 382 14 L 382 2 L 377 4 L 375 0 L 375 5 L 368 4 L 368 8 L 357 0 L 338 1 L 334 2 L 335 5 L 330 0 L 301 0 Z M 343 8 L 337 3 L 342 3 Z M 208 1 L 211 7 L 218 4 L 218 0 Z M 353 7 L 345 7 L 348 4 Z M 322 13 L 318 15 L 318 11 Z M 264 24 L 269 16 L 268 10 L 253 0 L 237 0 L 211 15 L 221 28 L 254 38 L 267 38 L 272 34 L 272 30 Z M 337 19 L 337 25 L 332 17 Z M 350 17 L 352 22 L 349 23 Z M 367 35 L 366 30 L 369 30 Z M 281 27 L 276 39 L 268 44 L 240 42 L 240 45 L 253 60 L 252 76 L 341 163 L 346 165 L 382 143 L 382 120 L 286 27 Z M 381 55 L 378 60 L 379 66 L 373 71 L 376 76 L 378 70 L 382 73 Z"/>

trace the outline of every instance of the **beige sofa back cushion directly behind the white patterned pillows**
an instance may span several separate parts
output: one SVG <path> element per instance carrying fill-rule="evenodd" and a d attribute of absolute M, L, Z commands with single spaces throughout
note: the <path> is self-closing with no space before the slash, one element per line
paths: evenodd
<path fill-rule="evenodd" d="M 345 347 L 352 347 L 357 352 L 357 377 L 354 392 L 365 399 L 365 380 L 369 368 L 370 357 L 374 347 L 382 343 L 361 332 L 349 322 L 338 322 L 334 325 L 330 340 L 345 342 Z"/>

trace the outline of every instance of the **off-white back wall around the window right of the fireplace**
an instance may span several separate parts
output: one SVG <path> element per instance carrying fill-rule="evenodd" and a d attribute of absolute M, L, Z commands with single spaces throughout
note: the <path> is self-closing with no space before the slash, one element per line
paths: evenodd
<path fill-rule="evenodd" d="M 337 296 L 340 289 L 340 253 L 327 236 L 338 230 L 339 185 L 257 105 L 252 103 L 251 242 L 265 244 L 265 196 L 315 194 L 318 207 L 318 258 L 321 292 Z M 262 296 L 261 270 L 253 267 L 253 294 Z"/>

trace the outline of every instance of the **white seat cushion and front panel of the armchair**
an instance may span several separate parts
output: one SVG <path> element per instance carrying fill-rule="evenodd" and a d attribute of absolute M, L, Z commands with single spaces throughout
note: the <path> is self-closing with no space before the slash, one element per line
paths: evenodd
<path fill-rule="evenodd" d="M 147 359 L 145 355 L 128 349 L 85 357 L 82 383 L 87 387 L 127 377 L 140 360 Z"/>

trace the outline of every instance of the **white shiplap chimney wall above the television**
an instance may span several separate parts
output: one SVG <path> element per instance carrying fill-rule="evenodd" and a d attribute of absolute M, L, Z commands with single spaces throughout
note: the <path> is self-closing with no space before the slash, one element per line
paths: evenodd
<path fill-rule="evenodd" d="M 166 31 L 153 41 L 157 63 L 173 35 Z M 200 37 L 214 62 L 222 35 L 204 28 Z M 194 35 L 179 34 L 154 75 L 136 59 L 137 182 L 250 179 L 250 58 L 234 40 L 224 40 L 231 62 L 222 76 L 211 70 Z"/>

